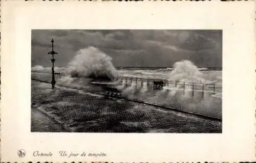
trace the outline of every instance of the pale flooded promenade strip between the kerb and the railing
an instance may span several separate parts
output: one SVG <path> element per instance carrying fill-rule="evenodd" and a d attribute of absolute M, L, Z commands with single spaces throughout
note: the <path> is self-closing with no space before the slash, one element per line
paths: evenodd
<path fill-rule="evenodd" d="M 32 77 L 48 82 L 51 81 L 50 74 L 32 73 Z M 92 86 L 85 79 L 80 78 L 76 82 L 72 82 L 71 84 L 69 82 L 63 82 L 63 78 L 65 78 L 65 76 L 56 75 L 57 84 L 65 86 L 75 86 L 94 92 L 104 92 L 101 87 Z M 87 82 L 87 84 L 84 84 L 84 82 Z M 133 93 L 131 93 L 131 91 Z M 129 99 L 141 100 L 167 107 L 173 107 L 176 110 L 180 111 L 192 112 L 222 119 L 222 99 L 211 97 L 213 93 L 194 92 L 194 94 L 192 94 L 189 91 L 177 91 L 175 93 L 174 92 L 169 90 L 143 91 L 140 88 L 130 90 L 129 88 L 127 88 L 126 90 L 124 89 L 121 94 L 123 97 Z"/>

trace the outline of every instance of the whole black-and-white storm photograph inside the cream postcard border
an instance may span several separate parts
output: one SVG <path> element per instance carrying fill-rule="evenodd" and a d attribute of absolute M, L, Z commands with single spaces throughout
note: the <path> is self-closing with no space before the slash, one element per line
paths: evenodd
<path fill-rule="evenodd" d="M 222 133 L 222 30 L 32 30 L 31 132 Z"/>

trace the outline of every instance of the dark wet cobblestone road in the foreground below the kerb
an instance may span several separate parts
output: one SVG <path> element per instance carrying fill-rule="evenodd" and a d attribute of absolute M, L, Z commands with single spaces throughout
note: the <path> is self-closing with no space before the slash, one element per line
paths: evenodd
<path fill-rule="evenodd" d="M 222 123 L 31 82 L 31 131 L 221 133 Z M 60 125 L 61 124 L 61 125 Z"/>

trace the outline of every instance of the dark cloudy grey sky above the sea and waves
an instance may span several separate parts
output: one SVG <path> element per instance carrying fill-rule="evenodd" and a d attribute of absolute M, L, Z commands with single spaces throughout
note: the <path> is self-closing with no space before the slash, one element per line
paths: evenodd
<path fill-rule="evenodd" d="M 51 66 L 54 39 L 56 66 L 65 67 L 76 51 L 94 46 L 114 66 L 172 67 L 190 60 L 199 67 L 222 67 L 221 30 L 32 30 L 32 66 Z"/>

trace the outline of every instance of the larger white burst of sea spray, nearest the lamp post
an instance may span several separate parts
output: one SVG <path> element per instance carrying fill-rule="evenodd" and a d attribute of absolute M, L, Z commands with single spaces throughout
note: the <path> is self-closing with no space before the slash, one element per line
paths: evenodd
<path fill-rule="evenodd" d="M 65 68 L 67 76 L 60 78 L 59 83 L 100 91 L 101 88 L 92 85 L 91 82 L 94 80 L 112 80 L 117 72 L 111 60 L 111 57 L 105 55 L 98 48 L 91 46 L 80 49 Z"/>

